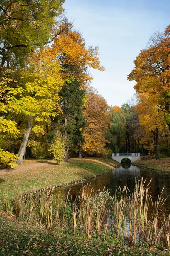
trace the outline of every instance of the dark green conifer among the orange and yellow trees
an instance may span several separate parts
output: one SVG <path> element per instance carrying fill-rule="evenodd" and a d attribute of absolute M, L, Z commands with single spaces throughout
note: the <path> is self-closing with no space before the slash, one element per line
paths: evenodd
<path fill-rule="evenodd" d="M 83 129 L 85 126 L 85 117 L 83 116 L 83 104 L 85 98 L 85 89 L 80 87 L 77 80 L 68 83 L 59 92 L 62 96 L 60 101 L 62 113 L 60 119 L 65 124 L 64 133 L 66 134 L 65 140 L 68 145 L 68 150 L 79 152 L 79 158 L 82 157 L 82 143 L 84 141 Z M 67 157 L 67 156 L 66 156 Z"/>

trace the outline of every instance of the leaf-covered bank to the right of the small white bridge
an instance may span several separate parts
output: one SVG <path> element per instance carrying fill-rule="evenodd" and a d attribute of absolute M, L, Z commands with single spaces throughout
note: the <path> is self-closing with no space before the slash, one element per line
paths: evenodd
<path fill-rule="evenodd" d="M 170 171 L 170 157 L 167 158 L 150 158 L 149 156 L 146 157 L 140 157 L 138 160 L 133 162 L 133 165 L 144 167 L 151 170 L 156 171 L 164 171 L 169 172 Z"/>

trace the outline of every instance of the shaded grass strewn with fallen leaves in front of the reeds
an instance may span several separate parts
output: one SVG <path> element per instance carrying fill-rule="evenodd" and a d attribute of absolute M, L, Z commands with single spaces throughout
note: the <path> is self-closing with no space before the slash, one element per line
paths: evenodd
<path fill-rule="evenodd" d="M 163 248 L 162 248 L 163 249 Z M 107 236 L 71 236 L 45 230 L 0 215 L 0 256 L 87 255 L 87 256 L 169 256 L 167 250 L 132 247 Z"/>

